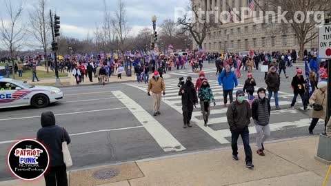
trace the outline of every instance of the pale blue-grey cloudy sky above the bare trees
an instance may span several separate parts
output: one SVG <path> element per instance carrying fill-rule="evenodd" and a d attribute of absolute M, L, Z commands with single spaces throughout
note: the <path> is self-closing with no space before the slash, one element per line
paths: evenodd
<path fill-rule="evenodd" d="M 14 8 L 20 0 L 12 1 Z M 126 3 L 128 22 L 132 31 L 137 34 L 141 28 L 152 28 L 151 17 L 157 15 L 157 23 L 164 19 L 174 19 L 176 7 L 187 6 L 188 0 L 123 0 Z M 3 0 L 0 0 L 3 4 Z M 33 11 L 37 0 L 26 0 L 24 2 L 23 22 L 28 22 L 28 12 Z M 106 0 L 108 9 L 116 11 L 117 0 Z M 103 21 L 103 0 L 47 0 L 48 12 L 50 8 L 55 10 L 61 17 L 61 32 L 68 37 L 85 39 L 87 34 L 93 34 L 95 25 L 101 25 Z M 8 19 L 6 6 L 0 6 L 0 15 Z M 158 24 L 158 25 L 159 25 Z"/>

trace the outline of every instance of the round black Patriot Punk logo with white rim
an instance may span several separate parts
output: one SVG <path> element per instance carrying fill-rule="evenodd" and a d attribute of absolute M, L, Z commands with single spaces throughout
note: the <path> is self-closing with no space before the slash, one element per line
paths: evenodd
<path fill-rule="evenodd" d="M 50 164 L 46 147 L 39 141 L 26 139 L 15 143 L 8 154 L 8 167 L 22 180 L 35 180 L 43 176 Z"/>

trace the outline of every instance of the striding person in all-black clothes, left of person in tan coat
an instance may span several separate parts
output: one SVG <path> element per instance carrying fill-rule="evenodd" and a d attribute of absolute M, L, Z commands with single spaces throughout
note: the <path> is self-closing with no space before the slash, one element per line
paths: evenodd
<path fill-rule="evenodd" d="M 297 96 L 300 94 L 303 110 L 307 110 L 307 104 L 305 103 L 305 79 L 303 78 L 301 69 L 297 69 L 297 75 L 293 77 L 291 85 L 294 93 L 291 108 L 294 108 L 295 102 L 297 101 Z"/>

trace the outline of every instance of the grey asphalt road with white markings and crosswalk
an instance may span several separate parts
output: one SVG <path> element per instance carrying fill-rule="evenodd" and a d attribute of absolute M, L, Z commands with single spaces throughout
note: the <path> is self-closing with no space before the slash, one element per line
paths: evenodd
<path fill-rule="evenodd" d="M 304 70 L 304 66 L 299 67 Z M 217 96 L 217 106 L 212 107 L 208 127 L 203 127 L 198 108 L 194 109 L 193 127 L 182 128 L 178 77 L 198 77 L 188 70 L 168 72 L 165 79 L 167 94 L 163 96 L 161 115 L 156 117 L 152 116 L 152 98 L 147 96 L 146 85 L 136 82 L 62 88 L 65 98 L 50 107 L 0 110 L 0 180 L 12 179 L 6 167 L 6 156 L 13 141 L 34 138 L 41 127 L 39 116 L 48 110 L 56 114 L 57 124 L 71 134 L 69 147 L 74 163 L 71 169 L 230 146 L 226 107 L 214 65 L 205 64 L 205 73 Z M 272 111 L 270 140 L 308 135 L 308 112 L 300 109 L 301 103 L 297 103 L 295 110 L 289 109 L 292 101 L 290 81 L 294 75 L 295 67 L 288 69 L 289 79 L 283 78 L 282 74 L 282 110 Z M 245 76 L 243 72 L 239 84 L 243 85 Z M 257 88 L 265 87 L 264 72 L 254 70 L 253 76 Z M 254 143 L 254 126 L 251 126 L 250 140 Z M 322 130 L 323 126 L 318 125 L 314 132 L 318 134 Z M 257 147 L 252 147 L 255 152 Z"/>

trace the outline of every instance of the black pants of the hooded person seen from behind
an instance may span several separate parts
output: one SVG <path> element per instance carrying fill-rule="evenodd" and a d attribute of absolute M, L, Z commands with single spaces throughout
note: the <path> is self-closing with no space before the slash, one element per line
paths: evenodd
<path fill-rule="evenodd" d="M 45 176 L 46 186 L 68 186 L 66 165 L 50 167 Z"/>

